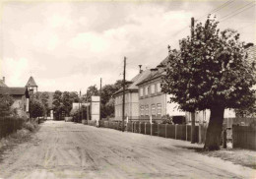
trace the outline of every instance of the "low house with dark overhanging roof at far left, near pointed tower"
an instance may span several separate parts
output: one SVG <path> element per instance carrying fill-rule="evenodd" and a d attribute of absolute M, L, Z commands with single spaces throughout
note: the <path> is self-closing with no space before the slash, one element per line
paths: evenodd
<path fill-rule="evenodd" d="M 27 88 L 8 88 L 1 87 L 0 94 L 9 94 L 14 98 L 11 108 L 16 109 L 19 117 L 28 117 L 30 94 Z"/>

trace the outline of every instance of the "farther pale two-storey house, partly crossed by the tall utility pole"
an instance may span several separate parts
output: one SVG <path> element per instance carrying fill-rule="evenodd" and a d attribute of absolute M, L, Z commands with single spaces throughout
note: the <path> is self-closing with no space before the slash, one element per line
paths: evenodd
<path fill-rule="evenodd" d="M 131 80 L 128 87 L 125 89 L 125 117 L 129 119 L 139 119 L 139 89 L 137 84 L 142 82 L 149 74 L 150 70 L 143 71 L 140 69 L 139 74 Z M 115 101 L 115 120 L 122 120 L 123 89 L 117 90 L 113 96 Z"/>

